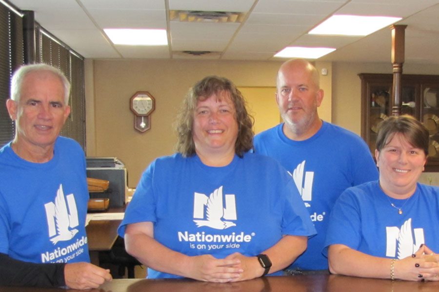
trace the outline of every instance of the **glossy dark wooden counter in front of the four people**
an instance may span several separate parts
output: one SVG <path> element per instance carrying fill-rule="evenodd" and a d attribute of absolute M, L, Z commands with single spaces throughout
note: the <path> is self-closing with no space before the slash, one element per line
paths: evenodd
<path fill-rule="evenodd" d="M 0 292 L 78 292 L 78 290 L 0 287 Z M 391 281 L 338 275 L 262 277 L 236 283 L 189 279 L 116 279 L 88 292 L 437 292 L 439 282 Z"/>

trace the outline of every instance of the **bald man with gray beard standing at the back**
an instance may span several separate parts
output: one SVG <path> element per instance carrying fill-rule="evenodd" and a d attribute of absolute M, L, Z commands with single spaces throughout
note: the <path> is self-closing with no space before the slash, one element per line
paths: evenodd
<path fill-rule="evenodd" d="M 347 187 L 378 179 L 364 141 L 319 118 L 323 95 L 319 72 L 312 64 L 303 59 L 286 61 L 280 66 L 276 91 L 284 123 L 254 139 L 255 152 L 277 159 L 290 172 L 317 229 L 289 274 L 329 273 L 322 249 L 334 202 Z"/>

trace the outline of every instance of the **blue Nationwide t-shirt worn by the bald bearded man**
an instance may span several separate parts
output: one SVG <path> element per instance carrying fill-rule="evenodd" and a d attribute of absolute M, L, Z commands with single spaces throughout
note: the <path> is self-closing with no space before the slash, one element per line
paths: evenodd
<path fill-rule="evenodd" d="M 327 269 L 321 250 L 332 206 L 346 188 L 377 180 L 378 170 L 364 141 L 346 129 L 323 122 L 311 138 L 294 141 L 282 126 L 256 135 L 255 152 L 275 158 L 290 172 L 318 233 L 289 268 Z"/>

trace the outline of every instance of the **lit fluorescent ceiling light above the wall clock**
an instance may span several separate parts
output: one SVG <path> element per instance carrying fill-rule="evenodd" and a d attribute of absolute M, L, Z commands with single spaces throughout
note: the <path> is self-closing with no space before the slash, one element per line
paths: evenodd
<path fill-rule="evenodd" d="M 168 44 L 164 29 L 105 28 L 104 31 L 115 45 L 165 46 Z"/>

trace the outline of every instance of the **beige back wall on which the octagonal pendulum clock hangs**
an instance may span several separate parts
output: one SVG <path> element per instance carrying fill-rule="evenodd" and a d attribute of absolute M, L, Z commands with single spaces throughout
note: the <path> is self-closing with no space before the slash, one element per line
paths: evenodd
<path fill-rule="evenodd" d="M 189 87 L 206 75 L 231 79 L 238 87 L 274 87 L 282 61 L 87 60 L 87 155 L 115 156 L 125 163 L 130 187 L 156 157 L 174 153 L 172 123 Z M 325 91 L 319 116 L 360 134 L 360 79 L 358 73 L 391 73 L 390 64 L 316 62 Z M 404 67 L 404 73 L 439 74 L 434 66 Z M 151 129 L 133 128 L 129 99 L 149 91 L 156 99 Z M 271 97 L 270 97 L 271 98 Z M 275 102 L 273 98 L 273 102 Z M 433 183 L 439 184 L 436 174 Z M 425 178 L 426 182 L 427 178 Z"/>

